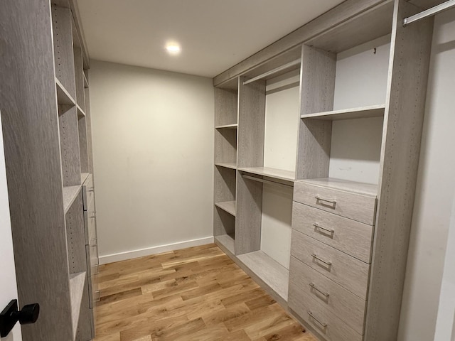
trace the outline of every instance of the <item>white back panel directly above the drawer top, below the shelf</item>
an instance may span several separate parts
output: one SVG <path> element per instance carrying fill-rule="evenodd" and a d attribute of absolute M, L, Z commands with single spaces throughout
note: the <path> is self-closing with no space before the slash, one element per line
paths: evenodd
<path fill-rule="evenodd" d="M 333 121 L 329 178 L 378 183 L 382 117 Z"/>

